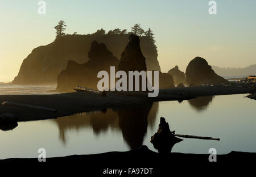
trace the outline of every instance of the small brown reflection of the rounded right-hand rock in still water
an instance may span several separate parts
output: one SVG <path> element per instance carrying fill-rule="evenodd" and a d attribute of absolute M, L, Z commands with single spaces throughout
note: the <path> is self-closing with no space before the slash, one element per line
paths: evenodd
<path fill-rule="evenodd" d="M 203 111 L 212 102 L 214 96 L 200 96 L 198 98 L 188 100 L 188 103 L 197 111 Z"/>

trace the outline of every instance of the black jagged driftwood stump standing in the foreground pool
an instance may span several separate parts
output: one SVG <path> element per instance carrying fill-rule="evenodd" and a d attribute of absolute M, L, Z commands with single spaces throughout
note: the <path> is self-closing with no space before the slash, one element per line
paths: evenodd
<path fill-rule="evenodd" d="M 172 147 L 177 142 L 183 141 L 182 139 L 175 137 L 174 134 L 175 131 L 171 132 L 169 124 L 166 123 L 164 117 L 161 117 L 158 132 L 151 137 L 150 142 L 154 145 L 155 149 L 159 151 L 159 153 L 170 153 Z"/>

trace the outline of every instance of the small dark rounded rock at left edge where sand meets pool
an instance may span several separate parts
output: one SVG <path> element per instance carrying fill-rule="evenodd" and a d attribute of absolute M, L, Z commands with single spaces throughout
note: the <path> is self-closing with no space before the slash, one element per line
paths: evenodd
<path fill-rule="evenodd" d="M 3 113 L 0 116 L 0 129 L 7 131 L 12 130 L 18 126 L 18 117 L 13 113 Z"/>

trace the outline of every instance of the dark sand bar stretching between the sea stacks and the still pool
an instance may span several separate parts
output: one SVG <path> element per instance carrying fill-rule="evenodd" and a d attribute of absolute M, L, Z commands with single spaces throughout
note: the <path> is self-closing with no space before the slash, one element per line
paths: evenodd
<path fill-rule="evenodd" d="M 147 96 L 127 96 L 108 93 L 100 96 L 89 92 L 69 92 L 54 95 L 0 95 L 0 103 L 10 100 L 20 104 L 57 109 L 56 112 L 42 111 L 39 109 L 0 105 L 2 113 L 14 113 L 18 121 L 56 119 L 56 117 L 68 116 L 73 113 L 96 111 L 106 108 L 123 107 L 134 104 L 146 104 L 150 102 L 166 100 L 187 100 L 197 96 L 247 94 L 255 92 L 252 87 L 234 86 L 194 86 L 170 88 L 159 91 L 156 98 Z"/>

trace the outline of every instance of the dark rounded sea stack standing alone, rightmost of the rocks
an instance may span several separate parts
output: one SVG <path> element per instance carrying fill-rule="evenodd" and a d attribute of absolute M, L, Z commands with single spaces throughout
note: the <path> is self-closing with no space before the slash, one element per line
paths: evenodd
<path fill-rule="evenodd" d="M 191 60 L 186 69 L 189 85 L 229 83 L 226 79 L 214 73 L 208 62 L 201 57 Z"/>

